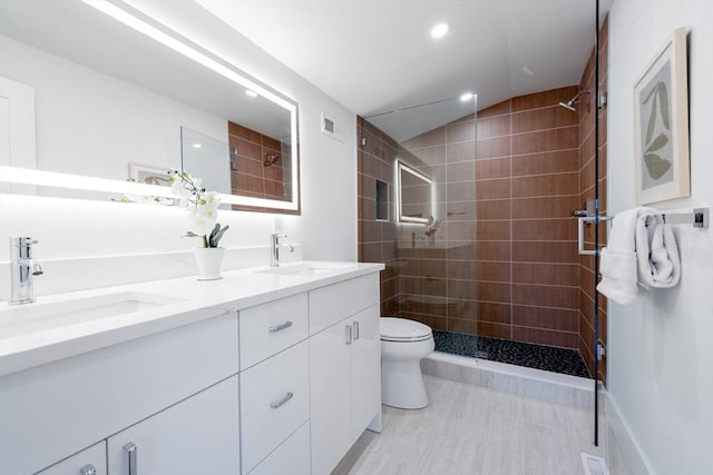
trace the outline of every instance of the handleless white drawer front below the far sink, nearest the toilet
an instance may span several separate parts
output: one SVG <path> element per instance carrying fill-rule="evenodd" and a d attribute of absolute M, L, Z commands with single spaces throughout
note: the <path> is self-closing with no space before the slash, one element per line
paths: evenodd
<path fill-rule="evenodd" d="M 379 304 L 379 273 L 310 291 L 310 335 Z"/>

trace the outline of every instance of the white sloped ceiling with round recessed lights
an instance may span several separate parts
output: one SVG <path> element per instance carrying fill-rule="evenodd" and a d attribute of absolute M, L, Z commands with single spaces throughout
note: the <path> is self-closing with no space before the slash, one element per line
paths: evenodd
<path fill-rule="evenodd" d="M 578 83 L 594 47 L 595 0 L 196 1 L 360 116 Z"/>

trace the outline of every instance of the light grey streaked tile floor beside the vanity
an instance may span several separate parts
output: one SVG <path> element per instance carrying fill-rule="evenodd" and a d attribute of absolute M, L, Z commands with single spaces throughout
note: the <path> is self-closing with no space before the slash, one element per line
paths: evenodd
<path fill-rule="evenodd" d="M 383 406 L 383 432 L 365 432 L 333 475 L 582 475 L 590 410 L 426 376 L 419 410 Z"/>

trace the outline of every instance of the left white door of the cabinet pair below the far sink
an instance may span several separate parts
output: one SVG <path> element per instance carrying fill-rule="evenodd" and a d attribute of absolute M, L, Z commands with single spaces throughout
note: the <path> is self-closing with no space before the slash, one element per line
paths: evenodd
<path fill-rule="evenodd" d="M 351 318 L 310 338 L 312 474 L 325 475 L 349 451 L 351 439 Z"/>

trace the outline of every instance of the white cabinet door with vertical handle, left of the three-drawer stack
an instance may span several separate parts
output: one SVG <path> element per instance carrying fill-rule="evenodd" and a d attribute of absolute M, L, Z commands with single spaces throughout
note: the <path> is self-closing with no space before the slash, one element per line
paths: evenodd
<path fill-rule="evenodd" d="M 238 427 L 233 376 L 108 438 L 109 474 L 238 474 Z"/>

